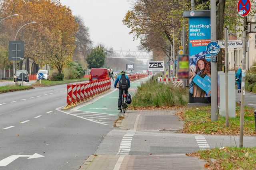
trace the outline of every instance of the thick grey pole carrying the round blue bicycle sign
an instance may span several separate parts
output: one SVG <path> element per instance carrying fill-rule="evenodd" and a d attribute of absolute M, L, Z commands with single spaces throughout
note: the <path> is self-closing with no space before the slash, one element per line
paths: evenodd
<path fill-rule="evenodd" d="M 216 41 L 216 0 L 211 0 L 211 41 Z M 211 62 L 212 96 L 211 96 L 211 120 L 218 120 L 218 90 L 217 90 L 217 63 Z"/>

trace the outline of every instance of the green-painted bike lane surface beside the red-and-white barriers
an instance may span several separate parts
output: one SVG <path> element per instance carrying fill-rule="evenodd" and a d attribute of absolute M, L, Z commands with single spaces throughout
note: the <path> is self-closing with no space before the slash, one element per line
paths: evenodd
<path fill-rule="evenodd" d="M 148 78 L 142 78 L 140 80 L 136 80 L 131 82 L 131 87 L 128 90 L 129 94 L 134 94 L 137 90 L 137 87 L 140 86 L 141 82 L 145 82 L 148 80 Z M 82 106 L 78 108 L 79 111 L 86 111 L 86 112 L 94 112 L 94 113 L 105 113 L 105 114 L 112 114 L 112 115 L 118 115 L 120 111 L 118 110 L 118 89 L 111 90 L 107 94 L 104 94 L 103 96 L 98 96 L 99 98 L 96 101 L 89 102 L 88 104 L 85 104 L 85 106 Z"/>

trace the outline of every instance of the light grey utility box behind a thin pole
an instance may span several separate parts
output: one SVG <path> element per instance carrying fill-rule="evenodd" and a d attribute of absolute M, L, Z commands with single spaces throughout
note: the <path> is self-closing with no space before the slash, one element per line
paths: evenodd
<path fill-rule="evenodd" d="M 228 116 L 236 117 L 236 78 L 235 71 L 228 71 Z M 222 117 L 226 116 L 225 73 L 218 72 L 218 108 Z M 213 94 L 212 94 L 213 95 Z"/>

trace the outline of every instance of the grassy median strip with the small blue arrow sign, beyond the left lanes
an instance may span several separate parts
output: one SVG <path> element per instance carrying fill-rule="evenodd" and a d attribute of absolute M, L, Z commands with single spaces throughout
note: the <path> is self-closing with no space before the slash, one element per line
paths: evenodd
<path fill-rule="evenodd" d="M 50 81 L 50 80 L 42 80 L 42 84 L 40 81 L 35 82 L 32 86 L 55 86 L 60 84 L 68 84 L 73 82 L 82 82 L 89 80 L 89 78 L 81 78 L 81 79 L 72 79 L 72 80 L 63 80 L 63 81 Z"/>

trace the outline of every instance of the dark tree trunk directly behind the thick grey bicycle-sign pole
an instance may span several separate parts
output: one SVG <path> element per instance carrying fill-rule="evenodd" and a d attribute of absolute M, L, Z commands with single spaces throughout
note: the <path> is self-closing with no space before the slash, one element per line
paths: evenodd
<path fill-rule="evenodd" d="M 218 16 L 217 16 L 217 39 L 223 40 L 223 27 L 224 27 L 224 12 L 225 12 L 225 2 L 226 0 L 219 0 L 218 4 Z M 218 54 L 217 70 L 222 70 L 223 61 L 223 50 L 220 50 Z"/>

